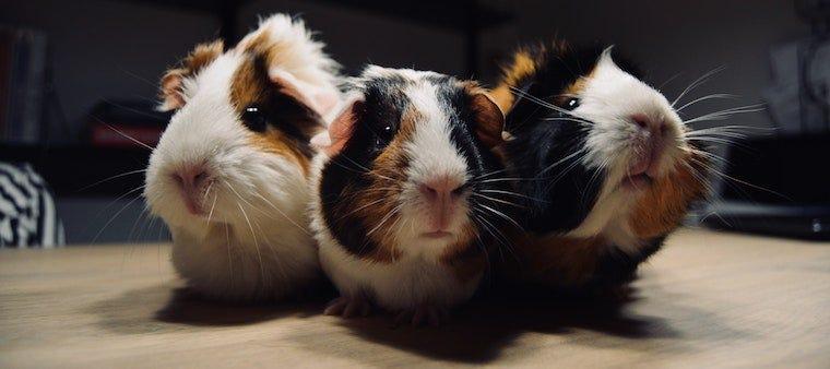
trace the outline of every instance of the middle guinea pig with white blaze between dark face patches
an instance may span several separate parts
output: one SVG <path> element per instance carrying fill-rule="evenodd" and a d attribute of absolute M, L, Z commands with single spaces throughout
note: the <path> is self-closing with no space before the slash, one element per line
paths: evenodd
<path fill-rule="evenodd" d="M 312 227 L 341 293 L 328 314 L 438 324 L 467 300 L 507 223 L 509 184 L 491 152 L 503 116 L 474 82 L 368 67 L 315 142 Z"/>

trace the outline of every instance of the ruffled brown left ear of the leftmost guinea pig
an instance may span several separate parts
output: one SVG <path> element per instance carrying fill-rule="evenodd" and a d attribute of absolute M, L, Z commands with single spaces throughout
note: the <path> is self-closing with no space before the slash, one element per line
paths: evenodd
<path fill-rule="evenodd" d="M 159 111 L 169 111 L 185 106 L 185 80 L 193 78 L 224 52 L 222 40 L 200 44 L 183 60 L 179 68 L 168 70 L 162 76 L 158 104 Z"/>

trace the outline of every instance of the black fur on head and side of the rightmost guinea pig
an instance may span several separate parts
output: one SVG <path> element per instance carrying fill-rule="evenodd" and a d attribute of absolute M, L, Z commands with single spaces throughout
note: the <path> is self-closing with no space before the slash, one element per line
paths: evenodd
<path fill-rule="evenodd" d="M 580 76 L 589 75 L 603 48 L 536 47 L 527 51 L 536 61 L 533 75 L 517 83 L 517 98 L 507 117 L 514 140 L 506 146 L 519 192 L 527 195 L 525 229 L 537 234 L 567 231 L 578 227 L 594 205 L 605 174 L 579 164 L 577 153 L 585 146 L 582 123 L 545 108 L 533 98 L 555 102 Z M 615 56 L 622 70 L 639 75 L 625 59 Z M 532 97 L 531 97 L 532 96 Z M 568 106 L 560 106 L 567 109 Z"/>

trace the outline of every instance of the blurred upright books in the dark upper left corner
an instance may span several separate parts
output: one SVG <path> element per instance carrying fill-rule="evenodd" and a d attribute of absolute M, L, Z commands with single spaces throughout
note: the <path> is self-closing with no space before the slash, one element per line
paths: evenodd
<path fill-rule="evenodd" d="M 40 139 L 46 91 L 46 34 L 0 26 L 0 141 Z"/>

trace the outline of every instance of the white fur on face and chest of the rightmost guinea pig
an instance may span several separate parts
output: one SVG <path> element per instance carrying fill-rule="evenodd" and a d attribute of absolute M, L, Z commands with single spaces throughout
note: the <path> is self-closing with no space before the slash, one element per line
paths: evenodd
<path fill-rule="evenodd" d="M 568 236 L 592 237 L 602 234 L 624 250 L 636 251 L 640 245 L 631 234 L 627 219 L 639 193 L 619 187 L 635 159 L 638 134 L 642 134 L 630 117 L 644 115 L 666 123 L 664 151 L 657 164 L 660 176 L 674 170 L 678 156 L 686 150 L 687 144 L 681 138 L 685 126 L 660 92 L 614 63 L 610 49 L 603 52 L 579 97 L 581 104 L 573 115 L 595 123 L 589 128 L 583 164 L 591 168 L 613 169 L 608 171 L 589 216 Z"/>

